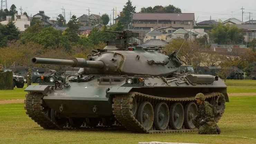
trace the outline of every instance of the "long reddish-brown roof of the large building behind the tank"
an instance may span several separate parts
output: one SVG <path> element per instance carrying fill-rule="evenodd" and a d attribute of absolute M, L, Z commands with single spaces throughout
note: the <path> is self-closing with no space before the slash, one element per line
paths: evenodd
<path fill-rule="evenodd" d="M 195 13 L 133 13 L 133 20 L 195 20 Z"/>

